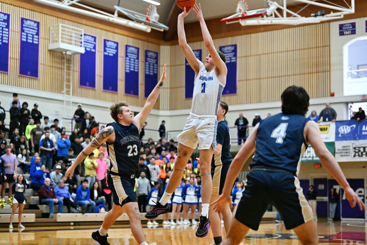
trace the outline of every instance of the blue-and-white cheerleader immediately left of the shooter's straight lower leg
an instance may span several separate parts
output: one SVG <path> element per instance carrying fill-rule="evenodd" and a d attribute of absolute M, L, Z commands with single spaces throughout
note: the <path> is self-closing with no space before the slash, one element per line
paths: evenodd
<path fill-rule="evenodd" d="M 188 213 L 189 208 L 191 208 L 191 218 L 192 218 L 192 224 L 197 224 L 197 221 L 195 221 L 195 210 L 197 206 L 197 191 L 199 188 L 194 184 L 195 178 L 190 177 L 189 184 L 185 185 L 182 189 L 182 196 L 183 196 L 183 224 L 190 224 Z"/>

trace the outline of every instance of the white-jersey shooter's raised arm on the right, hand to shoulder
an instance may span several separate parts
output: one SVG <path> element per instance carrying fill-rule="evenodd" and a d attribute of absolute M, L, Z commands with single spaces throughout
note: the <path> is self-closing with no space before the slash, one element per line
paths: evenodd
<path fill-rule="evenodd" d="M 199 3 L 199 5 L 197 5 L 195 3 L 192 10 L 195 12 L 196 17 L 200 22 L 201 33 L 203 33 L 204 44 L 205 44 L 205 47 L 209 50 L 210 56 L 213 59 L 213 62 L 215 64 L 215 68 L 217 69 L 216 72 L 218 72 L 219 75 L 226 76 L 227 75 L 227 66 L 224 63 L 224 61 L 222 61 L 221 57 L 219 57 L 219 54 L 217 53 L 217 50 L 214 47 L 213 40 L 210 36 L 210 33 L 209 33 L 208 28 L 207 28 L 207 26 L 205 24 L 205 21 L 204 21 L 203 12 L 201 12 L 200 3 Z"/>

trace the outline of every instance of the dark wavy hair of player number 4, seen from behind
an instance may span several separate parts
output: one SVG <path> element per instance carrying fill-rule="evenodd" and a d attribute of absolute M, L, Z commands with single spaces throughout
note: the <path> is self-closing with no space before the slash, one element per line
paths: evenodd
<path fill-rule="evenodd" d="M 308 107 L 310 105 L 310 97 L 307 91 L 300 86 L 290 86 L 280 96 L 281 111 L 284 114 L 297 114 L 306 116 Z"/>

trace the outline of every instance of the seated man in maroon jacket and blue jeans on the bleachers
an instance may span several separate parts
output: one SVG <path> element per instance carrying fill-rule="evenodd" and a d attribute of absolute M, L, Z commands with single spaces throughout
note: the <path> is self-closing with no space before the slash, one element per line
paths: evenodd
<path fill-rule="evenodd" d="M 63 200 L 57 198 L 54 187 L 50 185 L 51 180 L 46 178 L 44 180 L 44 185 L 41 186 L 38 191 L 38 195 L 40 198 L 40 204 L 47 204 L 50 210 L 50 216 L 48 218 L 52 219 L 52 213 L 54 212 L 54 204 L 58 204 L 58 213 L 62 213 L 63 209 Z M 32 183 L 31 183 L 32 184 Z"/>

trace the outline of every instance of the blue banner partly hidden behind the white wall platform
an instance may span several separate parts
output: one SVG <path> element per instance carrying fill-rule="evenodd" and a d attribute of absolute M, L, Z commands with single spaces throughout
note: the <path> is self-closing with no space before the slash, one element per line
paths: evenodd
<path fill-rule="evenodd" d="M 80 54 L 79 86 L 95 89 L 97 37 L 84 33 L 85 52 Z"/>

